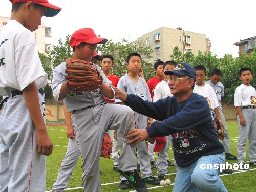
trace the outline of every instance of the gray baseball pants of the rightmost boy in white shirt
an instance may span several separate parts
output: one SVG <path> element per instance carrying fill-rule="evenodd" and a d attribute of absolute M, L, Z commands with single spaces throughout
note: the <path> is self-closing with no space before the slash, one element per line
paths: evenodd
<path fill-rule="evenodd" d="M 256 109 L 242 109 L 245 126 L 240 124 L 238 116 L 238 160 L 246 159 L 246 143 L 249 140 L 249 158 L 250 161 L 256 159 Z"/>

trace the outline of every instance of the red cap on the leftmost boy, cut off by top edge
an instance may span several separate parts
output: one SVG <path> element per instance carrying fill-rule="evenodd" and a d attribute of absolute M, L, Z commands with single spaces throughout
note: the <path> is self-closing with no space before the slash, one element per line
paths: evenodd
<path fill-rule="evenodd" d="M 16 3 L 27 3 L 28 1 L 31 1 L 33 3 L 37 3 L 39 5 L 48 7 L 47 12 L 44 16 L 46 17 L 54 17 L 55 15 L 57 15 L 61 8 L 50 4 L 47 0 L 10 0 L 10 2 L 12 3 L 12 5 L 16 4 Z"/>

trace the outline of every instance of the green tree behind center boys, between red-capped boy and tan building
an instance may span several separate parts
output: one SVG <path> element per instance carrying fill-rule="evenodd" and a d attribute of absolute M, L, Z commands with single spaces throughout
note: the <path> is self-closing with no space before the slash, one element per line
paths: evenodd
<path fill-rule="evenodd" d="M 126 39 L 114 42 L 109 40 L 106 44 L 98 45 L 97 51 L 100 51 L 101 55 L 110 54 L 114 57 L 114 67 L 112 73 L 121 77 L 127 74 L 126 57 L 133 52 L 139 53 L 142 57 L 142 69 L 146 80 L 154 76 L 153 65 L 150 62 L 146 62 L 143 58 L 152 58 L 151 53 L 153 50 L 145 44 L 144 41 L 137 41 L 129 43 Z"/>

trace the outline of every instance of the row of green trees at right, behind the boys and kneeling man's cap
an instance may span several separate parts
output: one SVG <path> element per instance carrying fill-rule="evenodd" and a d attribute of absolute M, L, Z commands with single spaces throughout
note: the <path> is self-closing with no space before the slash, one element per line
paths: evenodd
<path fill-rule="evenodd" d="M 222 71 L 221 82 L 224 84 L 224 97 L 222 100 L 224 103 L 231 104 L 234 100 L 234 91 L 241 84 L 239 80 L 239 70 L 243 67 L 250 67 L 254 72 L 256 71 L 256 47 L 251 55 L 247 56 L 244 53 L 239 53 L 239 57 L 233 58 L 231 54 L 225 54 L 222 58 L 218 58 L 216 54 L 210 52 L 199 52 L 197 56 L 193 53 L 187 52 L 184 56 L 176 46 L 174 47 L 173 54 L 170 58 L 179 63 L 190 63 L 191 66 L 203 65 L 206 68 L 206 79 L 209 80 L 210 72 L 214 69 L 220 69 Z M 251 82 L 253 87 L 256 87 L 256 79 Z"/>

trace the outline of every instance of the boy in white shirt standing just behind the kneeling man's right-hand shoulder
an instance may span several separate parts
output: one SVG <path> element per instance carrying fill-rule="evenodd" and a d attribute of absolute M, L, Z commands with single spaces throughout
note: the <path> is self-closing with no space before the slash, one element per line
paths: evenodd
<path fill-rule="evenodd" d="M 214 120 L 217 118 L 221 121 L 220 110 L 218 100 L 215 94 L 214 89 L 208 84 L 205 84 L 204 79 L 206 78 L 206 69 L 204 66 L 198 65 L 194 67 L 196 71 L 196 85 L 193 90 L 194 93 L 202 95 L 208 101 L 210 111 L 211 111 L 211 118 Z"/>

